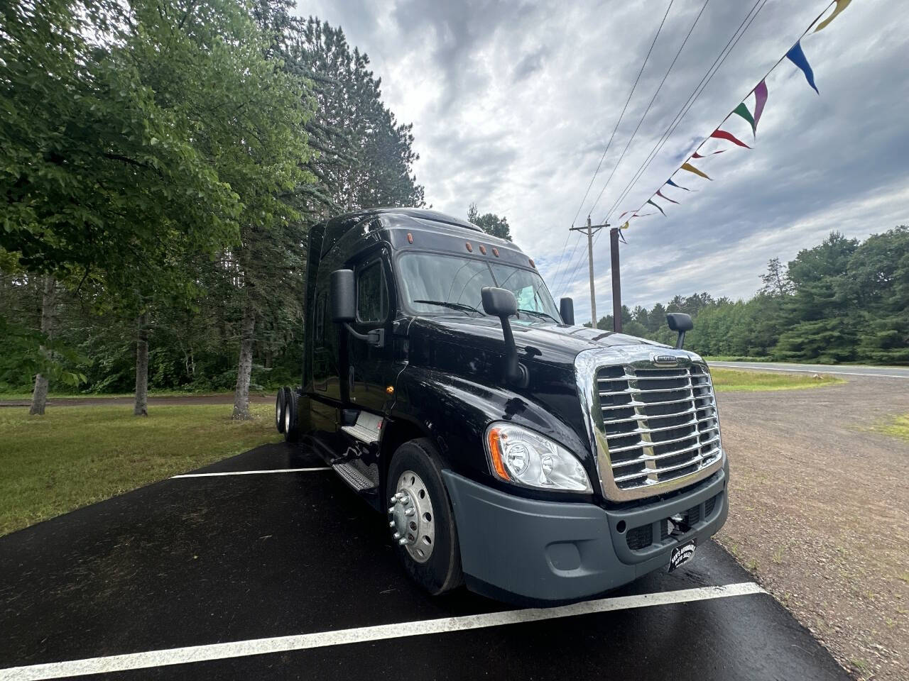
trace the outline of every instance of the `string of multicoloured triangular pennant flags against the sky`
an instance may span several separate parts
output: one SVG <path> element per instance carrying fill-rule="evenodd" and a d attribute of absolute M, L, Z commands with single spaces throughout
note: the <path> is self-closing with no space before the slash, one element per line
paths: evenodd
<path fill-rule="evenodd" d="M 761 116 L 764 114 L 764 106 L 767 104 L 767 96 L 768 96 L 767 82 L 766 82 L 767 76 L 769 76 L 771 73 L 773 73 L 774 69 L 778 65 L 782 64 L 783 61 L 786 59 L 788 59 L 790 62 L 792 62 L 796 67 L 798 67 L 802 71 L 802 73 L 804 74 L 805 80 L 807 81 L 807 83 L 809 85 L 811 85 L 811 87 L 814 89 L 814 92 L 817 94 L 820 94 L 820 91 L 817 89 L 817 84 L 814 83 L 814 69 L 812 69 L 811 64 L 808 64 L 808 59 L 805 56 L 804 51 L 802 49 L 802 38 L 804 38 L 805 35 L 808 35 L 808 33 L 811 31 L 811 29 L 815 25 L 816 25 L 816 27 L 814 28 L 814 33 L 817 33 L 818 31 L 821 31 L 824 28 L 826 28 L 826 26 L 830 25 L 830 23 L 838 15 L 840 15 L 844 11 L 844 9 L 848 5 L 850 5 L 851 2 L 852 2 L 852 0 L 831 0 L 830 4 L 826 5 L 824 7 L 824 11 L 821 12 L 820 15 L 817 15 L 817 17 L 815 17 L 814 21 L 810 25 L 808 25 L 808 27 L 804 30 L 804 33 L 799 37 L 799 39 L 795 42 L 795 44 L 791 48 L 789 48 L 789 51 L 786 52 L 782 57 L 780 57 L 776 61 L 776 63 L 770 68 L 770 71 L 768 71 L 766 74 L 764 74 L 764 77 L 760 80 L 760 82 L 758 82 L 758 84 L 756 84 L 754 86 L 754 89 L 752 89 L 752 91 L 749 92 L 745 96 L 745 100 L 746 100 L 746 99 L 748 99 L 749 96 L 754 94 L 754 110 L 749 109 L 748 104 L 746 104 L 744 101 L 741 101 L 739 104 L 736 104 L 735 108 L 729 114 L 726 114 L 725 118 L 723 119 L 723 123 L 725 123 L 732 115 L 737 115 L 740 118 L 742 118 L 745 123 L 748 123 L 751 126 L 752 135 L 756 138 L 757 126 L 758 126 L 758 123 L 760 123 L 760 121 L 761 121 Z M 831 15 L 829 15 L 826 19 L 824 19 L 824 21 L 821 21 L 821 17 L 824 16 L 824 14 L 831 7 L 834 7 L 833 13 L 831 13 Z M 818 22 L 820 22 L 820 23 L 818 23 Z M 720 125 L 722 126 L 723 123 L 720 123 Z M 751 149 L 751 147 L 748 144 L 742 142 L 742 140 L 738 139 L 733 133 L 729 133 L 729 132 L 727 132 L 725 130 L 721 130 L 719 127 L 717 127 L 714 130 L 714 132 L 710 133 L 710 135 L 707 137 L 707 139 L 705 139 L 704 142 L 702 142 L 696 148 L 694 153 L 692 153 L 692 155 L 688 157 L 688 160 L 685 161 L 684 163 L 682 163 L 681 166 L 679 166 L 679 168 L 677 169 L 676 172 L 678 172 L 680 170 L 684 170 L 687 173 L 694 173 L 695 175 L 703 177 L 704 180 L 712 181 L 712 178 L 709 175 L 707 175 L 707 173 L 704 173 L 703 171 L 695 168 L 694 165 L 689 163 L 693 159 L 703 159 L 708 156 L 713 156 L 717 153 L 724 153 L 725 151 L 728 151 L 728 149 L 720 149 L 715 152 L 703 153 L 703 154 L 700 153 L 701 147 L 704 146 L 704 143 L 706 143 L 707 141 L 709 141 L 711 139 L 725 140 L 726 142 L 734 143 L 735 145 L 744 147 L 745 149 Z M 684 190 L 685 192 L 696 191 L 696 190 L 688 189 L 687 187 L 683 187 L 679 184 L 674 183 L 674 181 L 672 179 L 672 175 L 670 175 L 670 178 L 668 180 L 666 180 L 664 185 L 669 185 L 669 186 L 675 187 L 676 189 Z M 655 212 L 647 212 L 647 213 L 640 212 L 644 208 L 644 205 L 646 205 L 647 203 L 654 206 L 654 208 L 657 211 L 663 213 L 663 215 L 665 216 L 666 213 L 664 212 L 663 208 L 653 201 L 654 196 L 659 196 L 660 198 L 665 199 L 666 201 L 671 202 L 671 203 L 675 203 L 675 204 L 679 203 L 677 201 L 674 201 L 674 199 L 670 199 L 668 196 L 665 196 L 661 190 L 658 190 L 651 196 L 650 199 L 648 199 L 646 202 L 644 202 L 640 208 L 638 208 L 636 211 L 631 213 L 631 216 L 628 218 L 628 220 L 624 222 L 622 229 L 626 229 L 628 226 L 628 223 L 631 220 L 634 220 L 634 218 L 644 218 L 644 217 L 647 217 L 648 215 L 656 214 Z M 619 220 L 621 221 L 622 218 L 627 214 L 628 214 L 628 211 L 623 212 L 619 216 Z"/>

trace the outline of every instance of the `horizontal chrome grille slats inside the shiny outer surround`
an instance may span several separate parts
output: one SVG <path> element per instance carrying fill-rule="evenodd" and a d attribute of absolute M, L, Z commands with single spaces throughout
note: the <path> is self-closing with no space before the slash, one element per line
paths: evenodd
<path fill-rule="evenodd" d="M 634 362 L 597 370 L 598 425 L 611 468 L 600 474 L 611 473 L 617 489 L 682 479 L 721 458 L 710 375 L 704 365 L 686 363 L 690 366 L 662 368 Z"/>

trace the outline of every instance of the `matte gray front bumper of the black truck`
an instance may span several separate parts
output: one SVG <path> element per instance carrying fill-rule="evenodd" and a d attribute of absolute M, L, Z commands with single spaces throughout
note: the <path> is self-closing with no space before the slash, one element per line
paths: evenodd
<path fill-rule="evenodd" d="M 714 535 L 728 512 L 728 461 L 684 493 L 630 510 L 514 497 L 451 470 L 442 475 L 454 506 L 467 586 L 504 599 L 577 600 L 621 587 L 665 568 L 679 544 Z M 710 498 L 714 506 L 705 515 Z M 659 523 L 698 505 L 701 519 L 692 528 L 660 540 Z M 653 524 L 654 543 L 628 548 L 627 530 L 646 524 Z"/>

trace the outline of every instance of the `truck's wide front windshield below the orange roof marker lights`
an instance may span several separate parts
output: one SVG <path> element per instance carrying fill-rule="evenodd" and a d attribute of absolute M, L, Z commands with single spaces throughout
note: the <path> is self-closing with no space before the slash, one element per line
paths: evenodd
<path fill-rule="evenodd" d="M 480 289 L 498 286 L 514 293 L 522 319 L 562 322 L 543 279 L 534 271 L 439 253 L 405 253 L 398 271 L 407 304 L 419 313 L 482 314 Z"/>

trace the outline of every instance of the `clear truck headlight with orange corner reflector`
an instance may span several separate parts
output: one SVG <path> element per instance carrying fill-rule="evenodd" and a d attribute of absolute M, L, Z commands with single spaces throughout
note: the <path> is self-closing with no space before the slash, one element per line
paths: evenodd
<path fill-rule="evenodd" d="M 510 423 L 486 429 L 486 454 L 494 475 L 538 489 L 593 493 L 581 462 L 553 440 Z"/>

